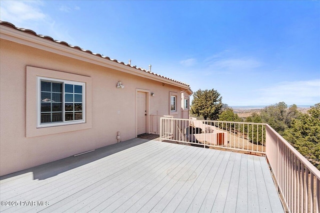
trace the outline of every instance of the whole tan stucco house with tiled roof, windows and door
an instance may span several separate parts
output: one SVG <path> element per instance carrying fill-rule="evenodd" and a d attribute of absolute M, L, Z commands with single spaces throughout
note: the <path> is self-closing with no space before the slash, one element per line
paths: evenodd
<path fill-rule="evenodd" d="M 188 118 L 189 85 L 0 21 L 0 176 Z"/>

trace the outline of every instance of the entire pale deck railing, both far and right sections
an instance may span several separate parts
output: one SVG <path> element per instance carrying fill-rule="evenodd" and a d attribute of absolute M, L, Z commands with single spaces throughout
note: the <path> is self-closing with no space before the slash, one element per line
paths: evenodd
<path fill-rule="evenodd" d="M 289 212 L 319 213 L 320 171 L 268 124 L 160 118 L 160 141 L 265 155 Z"/>

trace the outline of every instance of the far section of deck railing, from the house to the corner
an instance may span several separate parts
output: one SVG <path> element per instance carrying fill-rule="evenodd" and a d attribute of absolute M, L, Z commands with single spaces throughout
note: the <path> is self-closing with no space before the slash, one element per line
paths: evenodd
<path fill-rule="evenodd" d="M 265 124 L 160 118 L 160 140 L 265 154 Z"/>

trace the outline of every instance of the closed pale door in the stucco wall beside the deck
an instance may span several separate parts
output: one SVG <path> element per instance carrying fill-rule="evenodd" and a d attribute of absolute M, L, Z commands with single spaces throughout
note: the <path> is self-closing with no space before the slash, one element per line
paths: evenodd
<path fill-rule="evenodd" d="M 136 94 L 136 119 L 137 119 L 137 134 L 141 135 L 146 133 L 145 123 L 146 123 L 146 93 L 137 92 Z"/>

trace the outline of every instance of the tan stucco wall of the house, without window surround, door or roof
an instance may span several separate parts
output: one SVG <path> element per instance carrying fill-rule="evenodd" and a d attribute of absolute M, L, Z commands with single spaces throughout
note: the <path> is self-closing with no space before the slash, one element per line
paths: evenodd
<path fill-rule="evenodd" d="M 86 116 L 91 124 L 81 130 L 54 134 L 46 131 L 41 136 L 26 137 L 26 125 L 36 125 L 26 120 L 36 116 L 30 111 L 26 116 L 26 104 L 29 108 L 36 107 L 30 101 L 36 94 L 26 98 L 26 94 L 32 95 L 26 91 L 26 82 L 32 82 L 26 80 L 27 66 L 89 77 L 91 112 Z M 123 89 L 116 88 L 118 81 L 124 85 Z M 117 143 L 117 131 L 122 141 L 136 137 L 137 88 L 155 94 L 149 96 L 148 115 L 169 114 L 169 92 L 176 92 L 177 99 L 181 98 L 180 88 L 176 86 L 1 39 L 0 176 Z M 180 104 L 177 101 L 178 112 L 174 117 L 181 116 Z"/>

